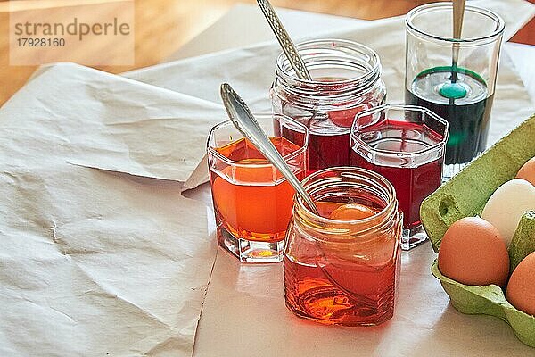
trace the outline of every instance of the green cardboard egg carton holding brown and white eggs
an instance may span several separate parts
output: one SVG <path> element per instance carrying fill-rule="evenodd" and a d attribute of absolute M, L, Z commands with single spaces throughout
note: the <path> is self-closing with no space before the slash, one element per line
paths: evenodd
<path fill-rule="evenodd" d="M 435 253 L 451 224 L 464 217 L 481 215 L 494 191 L 535 156 L 535 115 L 525 120 L 506 137 L 481 154 L 455 177 L 427 197 L 420 207 L 420 217 Z M 476 248 L 476 247 L 474 247 Z M 523 215 L 509 245 L 511 271 L 523 257 L 535 251 L 535 212 Z M 444 277 L 437 261 L 432 275 L 449 295 L 451 304 L 467 314 L 485 314 L 505 320 L 526 345 L 535 347 L 535 317 L 519 311 L 506 301 L 499 286 L 467 286 Z"/>

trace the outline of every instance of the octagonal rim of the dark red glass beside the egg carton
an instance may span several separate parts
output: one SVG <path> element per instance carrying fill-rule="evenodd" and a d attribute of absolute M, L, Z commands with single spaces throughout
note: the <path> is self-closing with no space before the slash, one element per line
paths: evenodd
<path fill-rule="evenodd" d="M 443 124 L 445 126 L 444 135 L 443 135 L 442 139 L 440 140 L 440 143 L 437 143 L 437 144 L 434 144 L 434 145 L 431 145 L 431 146 L 427 146 L 427 147 L 425 147 L 424 149 L 421 149 L 421 150 L 417 150 L 417 151 L 410 152 L 410 153 L 405 153 L 405 152 L 400 152 L 400 151 L 384 150 L 384 149 L 374 148 L 374 147 L 368 145 L 360 137 L 358 137 L 358 134 L 357 134 L 358 129 L 356 128 L 356 124 L 357 124 L 358 118 L 364 117 L 364 116 L 368 116 L 368 115 L 372 115 L 375 112 L 381 112 L 381 111 L 389 110 L 389 109 L 394 109 L 394 110 L 399 110 L 399 111 L 407 111 L 407 110 L 409 110 L 409 111 L 424 112 L 425 114 L 427 114 L 430 117 L 432 117 L 432 119 L 438 120 L 440 122 L 440 124 Z M 447 120 L 443 119 L 442 117 L 437 115 L 435 112 L 432 112 L 432 111 L 430 111 L 429 109 L 427 109 L 427 108 L 425 108 L 423 106 L 407 105 L 407 104 L 383 104 L 383 105 L 376 106 L 374 108 L 368 109 L 368 110 L 363 111 L 363 112 L 358 112 L 358 114 L 355 115 L 355 119 L 353 120 L 353 124 L 351 124 L 351 129 L 350 129 L 350 138 L 354 139 L 355 141 L 357 141 L 358 145 L 364 147 L 366 149 L 366 151 L 372 152 L 374 154 L 382 154 L 382 155 L 385 155 L 385 156 L 392 156 L 392 157 L 399 157 L 400 154 L 403 155 L 404 157 L 413 157 L 413 156 L 419 156 L 421 154 L 427 154 L 429 152 L 436 151 L 437 149 L 440 149 L 441 147 L 446 145 L 446 143 L 448 142 L 448 137 L 449 137 L 449 122 Z M 352 146 L 352 145 L 350 145 L 350 146 Z"/>

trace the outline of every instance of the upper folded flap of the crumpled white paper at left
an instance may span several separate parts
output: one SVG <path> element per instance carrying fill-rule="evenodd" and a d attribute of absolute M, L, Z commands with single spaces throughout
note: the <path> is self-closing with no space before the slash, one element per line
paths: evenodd
<path fill-rule="evenodd" d="M 225 115 L 218 104 L 61 63 L 39 71 L 4 104 L 0 129 L 23 133 L 25 156 L 41 155 L 42 140 L 53 136 L 54 154 L 67 162 L 185 182 L 202 160 L 208 131 Z"/>

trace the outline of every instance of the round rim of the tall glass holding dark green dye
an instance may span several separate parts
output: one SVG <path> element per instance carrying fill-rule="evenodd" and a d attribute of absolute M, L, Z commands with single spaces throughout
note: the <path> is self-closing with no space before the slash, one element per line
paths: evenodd
<path fill-rule="evenodd" d="M 413 23 L 413 20 L 416 16 L 422 14 L 422 12 L 426 12 L 428 10 L 442 10 L 442 9 L 451 9 L 450 11 L 453 11 L 453 4 L 452 3 L 431 3 L 431 4 L 423 4 L 420 6 L 415 7 L 410 12 L 407 13 L 407 16 L 405 17 L 405 24 L 406 29 L 412 30 L 416 32 L 419 36 L 432 39 L 435 41 L 440 42 L 447 42 L 450 44 L 458 44 L 459 46 L 463 45 L 477 45 L 480 42 L 486 42 L 488 40 L 494 39 L 495 37 L 499 37 L 503 34 L 504 29 L 506 28 L 505 21 L 498 15 L 496 12 L 492 12 L 488 9 L 483 9 L 478 6 L 473 5 L 466 5 L 465 6 L 465 12 L 475 12 L 482 15 L 487 16 L 492 21 L 496 23 L 496 29 L 492 31 L 489 35 L 481 36 L 481 37 L 469 37 L 469 38 L 453 38 L 453 37 L 441 37 L 437 35 L 432 35 L 422 29 L 418 29 L 416 25 Z"/>

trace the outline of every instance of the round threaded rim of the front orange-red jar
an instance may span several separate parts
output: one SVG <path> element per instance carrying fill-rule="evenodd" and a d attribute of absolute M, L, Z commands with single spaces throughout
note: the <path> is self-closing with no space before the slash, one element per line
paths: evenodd
<path fill-rule="evenodd" d="M 383 186 L 385 187 L 385 190 L 387 191 L 387 194 L 389 195 L 389 198 L 390 200 L 388 200 L 388 202 L 386 202 L 384 208 L 380 211 L 380 212 L 376 212 L 374 215 L 370 216 L 370 217 L 366 217 L 366 218 L 363 218 L 363 219 L 359 219 L 359 220 L 333 220 L 333 219 L 330 219 L 330 218 L 326 218 L 324 216 L 320 216 L 319 214 L 316 214 L 312 211 L 310 211 L 308 205 L 303 201 L 303 199 L 300 197 L 300 195 L 295 195 L 295 203 L 297 206 L 299 206 L 301 209 L 303 209 L 307 215 L 309 215 L 310 217 L 314 218 L 314 220 L 318 220 L 322 223 L 327 223 L 327 224 L 333 224 L 333 225 L 337 225 L 337 224 L 343 224 L 343 225 L 349 225 L 349 226 L 356 226 L 358 224 L 363 224 L 363 223 L 367 223 L 367 222 L 370 222 L 370 221 L 373 221 L 373 220 L 376 220 L 378 217 L 382 217 L 382 216 L 386 216 L 389 212 L 391 212 L 393 210 L 393 208 L 397 208 L 398 206 L 398 198 L 397 198 L 397 195 L 396 195 L 396 190 L 395 188 L 393 187 L 393 185 L 391 184 L 391 182 L 388 180 L 388 179 L 385 179 L 383 177 L 383 175 L 377 173 L 377 172 L 374 172 L 372 170 L 367 170 L 367 169 L 363 169 L 363 168 L 357 168 L 357 167 L 353 167 L 353 166 L 338 166 L 338 167 L 332 167 L 332 168 L 325 168 L 323 170 L 317 170 L 311 174 L 309 174 L 309 176 L 307 176 L 305 179 L 303 179 L 301 181 L 301 185 L 305 188 L 305 190 L 307 191 L 307 193 L 309 193 L 309 191 L 307 190 L 307 188 L 309 188 L 308 184 L 310 185 L 310 181 L 312 179 L 316 179 L 317 176 L 320 176 L 322 174 L 324 174 L 325 172 L 344 172 L 344 171 L 350 171 L 350 173 L 352 174 L 357 174 L 357 175 L 361 175 L 363 176 L 364 175 L 368 175 L 368 176 L 371 176 L 373 179 L 375 179 L 376 181 L 378 181 L 379 183 L 383 184 Z M 372 229 L 372 228 L 376 228 L 378 226 L 380 226 L 381 223 L 375 225 L 375 226 L 372 226 L 370 228 L 366 228 L 365 230 L 359 232 L 359 234 L 366 234 L 368 230 Z"/>

